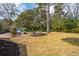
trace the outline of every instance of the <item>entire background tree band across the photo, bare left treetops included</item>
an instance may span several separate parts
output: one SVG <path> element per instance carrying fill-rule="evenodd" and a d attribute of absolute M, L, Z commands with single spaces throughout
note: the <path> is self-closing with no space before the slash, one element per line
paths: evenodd
<path fill-rule="evenodd" d="M 0 4 L 0 17 L 3 19 L 0 21 L 0 30 L 10 31 L 10 27 L 15 24 L 16 28 L 22 31 L 79 32 L 78 3 L 37 3 L 36 5 L 38 7 L 25 10 L 18 15 L 15 4 Z M 50 14 L 52 5 L 54 13 Z M 16 19 L 15 16 L 17 16 Z"/>

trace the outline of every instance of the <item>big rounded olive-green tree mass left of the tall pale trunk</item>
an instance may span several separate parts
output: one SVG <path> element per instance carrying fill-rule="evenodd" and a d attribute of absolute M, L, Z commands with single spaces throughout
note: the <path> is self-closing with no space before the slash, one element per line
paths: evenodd
<path fill-rule="evenodd" d="M 39 8 L 26 10 L 18 16 L 15 22 L 19 28 L 26 28 L 28 31 L 45 31 L 45 10 L 39 10 Z"/>

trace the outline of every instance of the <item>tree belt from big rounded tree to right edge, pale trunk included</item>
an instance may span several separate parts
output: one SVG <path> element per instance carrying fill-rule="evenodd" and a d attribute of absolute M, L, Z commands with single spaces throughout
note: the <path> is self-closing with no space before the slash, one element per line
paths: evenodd
<path fill-rule="evenodd" d="M 77 31 L 75 29 L 78 28 L 78 4 L 74 4 L 77 11 L 72 11 L 70 4 L 64 3 L 37 5 L 37 8 L 26 10 L 18 16 L 16 24 L 19 27 L 30 31 Z M 50 5 L 54 5 L 54 14 L 49 13 Z"/>

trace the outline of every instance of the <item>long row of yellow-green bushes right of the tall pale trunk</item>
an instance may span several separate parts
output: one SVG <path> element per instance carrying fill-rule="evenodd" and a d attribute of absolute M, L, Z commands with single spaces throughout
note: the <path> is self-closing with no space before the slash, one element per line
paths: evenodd
<path fill-rule="evenodd" d="M 77 19 L 66 19 L 66 18 L 53 18 L 52 30 L 58 32 L 79 32 L 78 25 L 79 20 Z"/>

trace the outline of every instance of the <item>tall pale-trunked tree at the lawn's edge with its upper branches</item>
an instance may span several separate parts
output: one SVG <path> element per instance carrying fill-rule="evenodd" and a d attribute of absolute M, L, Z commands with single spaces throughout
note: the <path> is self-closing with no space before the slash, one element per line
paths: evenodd
<path fill-rule="evenodd" d="M 39 7 L 39 9 L 41 9 L 41 10 L 45 10 L 46 12 L 46 25 L 47 25 L 47 28 L 46 28 L 46 31 L 47 31 L 47 33 L 49 33 L 50 32 L 50 13 L 49 13 L 49 11 L 50 11 L 50 6 L 52 6 L 52 5 L 55 5 L 56 3 L 38 3 L 38 7 Z"/>

